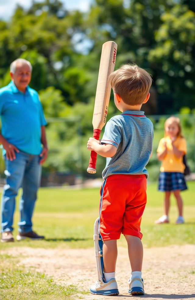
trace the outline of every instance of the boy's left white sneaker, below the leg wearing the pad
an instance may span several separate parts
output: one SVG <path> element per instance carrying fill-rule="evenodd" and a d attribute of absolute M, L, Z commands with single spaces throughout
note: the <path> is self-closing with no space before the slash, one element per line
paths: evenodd
<path fill-rule="evenodd" d="M 100 283 L 97 282 L 96 284 L 90 287 L 90 292 L 93 295 L 119 295 L 119 290 L 115 279 L 111 279 L 106 283 L 103 282 L 102 285 L 100 285 Z"/>

